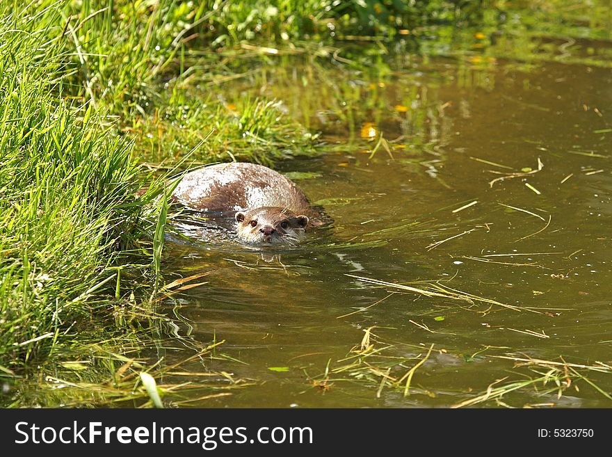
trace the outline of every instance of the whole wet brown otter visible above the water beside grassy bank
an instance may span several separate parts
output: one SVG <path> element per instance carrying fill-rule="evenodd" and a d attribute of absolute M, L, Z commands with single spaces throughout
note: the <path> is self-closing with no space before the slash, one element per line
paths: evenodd
<path fill-rule="evenodd" d="M 231 214 L 239 239 L 264 246 L 296 245 L 309 228 L 327 223 L 295 183 L 254 163 L 220 163 L 187 173 L 172 201 L 207 214 Z"/>

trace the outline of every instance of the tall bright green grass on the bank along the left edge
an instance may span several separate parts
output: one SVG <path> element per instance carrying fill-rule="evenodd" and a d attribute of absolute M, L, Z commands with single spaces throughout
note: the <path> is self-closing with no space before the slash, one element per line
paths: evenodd
<path fill-rule="evenodd" d="M 113 267 L 154 223 L 156 186 L 136 200 L 131 143 L 105 111 L 63 97 L 58 9 L 3 3 L 0 16 L 0 365 L 10 368 L 111 305 Z"/>

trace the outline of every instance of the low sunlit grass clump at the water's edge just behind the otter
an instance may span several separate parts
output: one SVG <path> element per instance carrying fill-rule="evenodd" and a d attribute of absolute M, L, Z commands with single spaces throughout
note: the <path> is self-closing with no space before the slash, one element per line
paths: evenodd
<path fill-rule="evenodd" d="M 316 135 L 285 120 L 279 102 L 246 99 L 236 105 L 182 93 L 154 116 L 136 118 L 129 129 L 148 160 L 174 163 L 190 154 L 193 164 L 232 159 L 272 165 L 314 154 Z"/>

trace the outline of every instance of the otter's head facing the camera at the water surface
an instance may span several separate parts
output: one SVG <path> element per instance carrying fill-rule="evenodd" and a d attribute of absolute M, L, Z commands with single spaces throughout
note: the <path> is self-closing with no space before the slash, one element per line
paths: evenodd
<path fill-rule="evenodd" d="M 278 207 L 260 207 L 236 213 L 239 238 L 254 244 L 296 244 L 304 237 L 307 216 Z"/>

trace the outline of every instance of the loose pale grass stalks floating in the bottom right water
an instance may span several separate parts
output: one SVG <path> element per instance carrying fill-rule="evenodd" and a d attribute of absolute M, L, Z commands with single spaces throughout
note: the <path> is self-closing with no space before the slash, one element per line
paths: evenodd
<path fill-rule="evenodd" d="M 412 323 L 432 332 L 423 324 Z M 384 332 L 384 329 L 380 331 Z M 428 347 L 387 343 L 376 335 L 378 332 L 376 327 L 365 329 L 360 344 L 353 346 L 344 358 L 333 362 L 330 360 L 322 374 L 311 378 L 312 388 L 326 392 L 339 389 L 342 385 L 354 384 L 375 392 L 377 399 L 381 397 L 383 390 L 389 390 L 407 401 L 410 401 L 411 395 L 430 398 L 441 396 L 442 404 L 448 404 L 451 408 L 466 408 L 481 403 L 506 408 L 552 407 L 556 406 L 563 396 L 571 397 L 580 392 L 581 388 L 590 389 L 602 398 L 612 400 L 611 394 L 598 385 L 600 380 L 605 382 L 612 375 L 612 367 L 609 364 L 595 362 L 586 365 L 568 362 L 562 357 L 559 360 L 541 360 L 524 354 L 506 355 L 504 349 L 508 348 L 485 346 L 464 357 L 469 363 L 476 365 L 492 359 L 510 360 L 515 362 L 513 369 L 511 372 L 508 370 L 508 374 L 503 378 L 486 386 L 483 392 L 470 393 L 467 399 L 452 403 L 444 397 L 452 394 L 461 398 L 465 394 L 449 392 L 443 385 L 438 387 L 440 393 L 436 394 L 432 387 L 420 383 L 414 385 L 412 382 L 417 371 L 427 371 L 427 368 L 423 367 L 426 363 L 435 366 L 449 363 L 449 360 L 457 360 L 456 355 L 449 354 L 444 348 L 444 343 L 430 344 Z M 496 352 L 501 355 L 495 354 Z M 406 353 L 412 355 L 407 356 Z M 598 374 L 599 379 L 593 380 L 594 375 Z M 510 396 L 515 390 L 522 390 L 531 401 L 515 403 Z"/>

